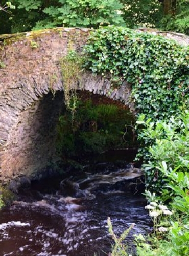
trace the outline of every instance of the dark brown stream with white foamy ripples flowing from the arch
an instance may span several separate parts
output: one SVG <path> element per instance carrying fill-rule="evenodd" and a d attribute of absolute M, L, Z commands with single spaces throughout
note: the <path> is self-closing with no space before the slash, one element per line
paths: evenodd
<path fill-rule="evenodd" d="M 79 174 L 75 177 L 82 189 L 90 191 L 86 198 L 75 200 L 59 193 L 48 193 L 40 185 L 3 209 L 0 212 L 0 255 L 107 255 L 112 245 L 108 217 L 116 234 L 135 224 L 128 243 L 133 234 L 148 232 L 150 219 L 144 210 L 145 198 L 123 189 L 126 179 L 129 175 L 135 176 L 136 170 L 108 172 L 107 168 L 101 168 L 99 172 L 98 166 L 97 175 L 87 171 L 82 179 Z"/>

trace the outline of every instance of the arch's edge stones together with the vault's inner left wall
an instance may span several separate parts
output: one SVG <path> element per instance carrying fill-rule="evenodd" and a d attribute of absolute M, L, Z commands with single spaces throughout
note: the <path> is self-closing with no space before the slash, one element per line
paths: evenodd
<path fill-rule="evenodd" d="M 35 179 L 38 172 L 58 159 L 55 150 L 56 123 L 64 104 L 64 88 L 61 74 L 57 71 L 54 83 L 51 83 L 49 76 L 44 80 L 41 77 L 32 78 L 32 81 L 20 78 L 14 88 L 2 95 L 0 178 L 3 184 L 19 176 Z M 111 90 L 111 93 L 110 88 L 110 80 L 86 72 L 77 90 L 119 100 L 132 111 L 129 85 L 123 83 L 120 89 Z"/>

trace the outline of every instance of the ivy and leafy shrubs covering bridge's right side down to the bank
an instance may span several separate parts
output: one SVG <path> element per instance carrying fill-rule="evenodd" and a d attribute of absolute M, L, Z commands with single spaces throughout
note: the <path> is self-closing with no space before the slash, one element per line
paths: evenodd
<path fill-rule="evenodd" d="M 84 53 L 85 67 L 110 77 L 112 86 L 124 80 L 132 85 L 136 110 L 142 113 L 137 125 L 147 187 L 159 190 L 160 199 L 175 211 L 172 222 L 163 218 L 170 231 L 162 240 L 157 237 L 160 217 L 173 212 L 163 211 L 161 204 L 150 205 L 155 237 L 151 243 L 138 239 L 137 255 L 188 255 L 188 49 L 161 36 L 111 26 L 92 32 Z M 140 125 L 145 128 L 139 130 Z M 180 220 L 178 225 L 174 218 Z M 112 255 L 127 255 L 111 226 L 110 231 L 115 241 Z"/>

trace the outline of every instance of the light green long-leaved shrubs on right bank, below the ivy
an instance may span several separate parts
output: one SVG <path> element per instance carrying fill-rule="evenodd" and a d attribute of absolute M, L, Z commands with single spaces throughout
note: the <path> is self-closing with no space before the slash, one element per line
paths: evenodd
<path fill-rule="evenodd" d="M 150 188 L 158 190 L 159 200 L 169 203 L 174 212 L 169 221 L 169 232 L 163 236 L 158 233 L 159 237 L 156 233 L 156 237 L 150 239 L 150 245 L 146 241 L 137 244 L 138 255 L 160 255 L 163 250 L 163 255 L 186 256 L 189 253 L 188 123 L 188 111 L 172 116 L 169 121 L 144 122 L 144 117 L 138 121 L 146 126 L 140 138 L 150 145 L 146 148 L 150 160 L 144 165 L 147 178 L 152 182 Z M 154 193 L 148 191 L 147 195 L 157 202 Z"/>

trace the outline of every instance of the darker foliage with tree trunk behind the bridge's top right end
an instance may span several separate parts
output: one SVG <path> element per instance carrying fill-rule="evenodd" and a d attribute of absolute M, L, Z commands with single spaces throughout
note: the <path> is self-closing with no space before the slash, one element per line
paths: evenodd
<path fill-rule="evenodd" d="M 156 27 L 189 34 L 188 0 L 122 0 L 121 2 L 124 4 L 122 16 L 130 28 Z"/>

